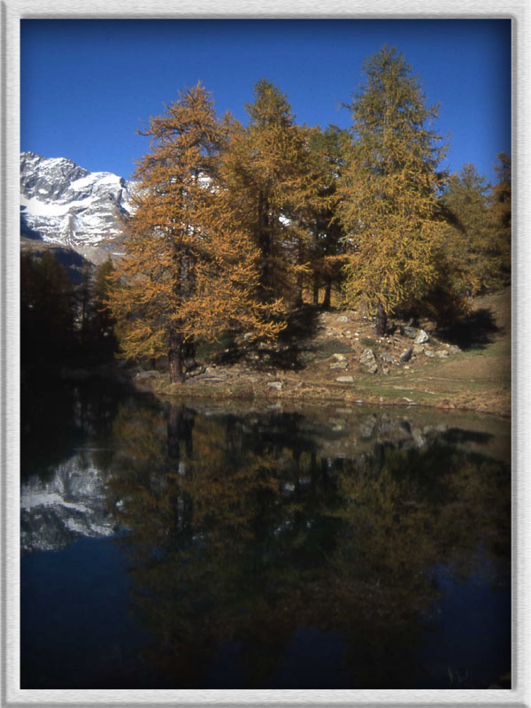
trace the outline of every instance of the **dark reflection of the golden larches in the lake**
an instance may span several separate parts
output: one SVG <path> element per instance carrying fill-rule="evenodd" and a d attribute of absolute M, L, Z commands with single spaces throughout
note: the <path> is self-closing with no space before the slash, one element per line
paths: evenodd
<path fill-rule="evenodd" d="M 264 686 L 297 628 L 318 627 L 345 639 L 350 686 L 412 686 L 430 569 L 508 555 L 507 469 L 436 435 L 332 458 L 300 416 L 183 406 L 124 408 L 114 435 L 110 498 L 162 685 L 202 685 L 235 641 L 246 685 Z"/>

